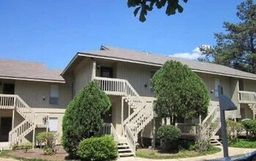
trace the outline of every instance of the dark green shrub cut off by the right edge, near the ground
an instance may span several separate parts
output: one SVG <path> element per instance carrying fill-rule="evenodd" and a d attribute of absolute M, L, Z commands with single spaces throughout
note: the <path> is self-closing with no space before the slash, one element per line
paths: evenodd
<path fill-rule="evenodd" d="M 246 119 L 241 121 L 246 132 L 248 132 L 249 138 L 256 138 L 256 119 Z"/>

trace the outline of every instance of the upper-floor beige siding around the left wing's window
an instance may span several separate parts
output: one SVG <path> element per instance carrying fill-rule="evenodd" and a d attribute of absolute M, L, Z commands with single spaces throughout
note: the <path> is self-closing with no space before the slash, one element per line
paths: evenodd
<path fill-rule="evenodd" d="M 49 102 L 51 84 L 53 83 L 16 81 L 15 94 L 18 94 L 31 108 L 66 108 L 72 99 L 72 84 L 59 83 L 58 105 L 51 105 Z"/>

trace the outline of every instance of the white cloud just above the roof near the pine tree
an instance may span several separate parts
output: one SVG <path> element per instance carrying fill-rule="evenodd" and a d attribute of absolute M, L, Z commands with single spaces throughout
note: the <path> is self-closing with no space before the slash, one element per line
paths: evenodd
<path fill-rule="evenodd" d="M 210 45 L 202 45 L 202 47 L 204 48 L 210 48 Z M 197 47 L 197 48 L 194 48 L 194 50 L 192 50 L 190 53 L 189 52 L 186 52 L 186 53 L 174 53 L 172 55 L 169 55 L 169 56 L 172 56 L 172 57 L 176 57 L 176 58 L 183 58 L 183 59 L 198 59 L 201 55 L 201 51 L 200 51 L 200 48 Z"/>

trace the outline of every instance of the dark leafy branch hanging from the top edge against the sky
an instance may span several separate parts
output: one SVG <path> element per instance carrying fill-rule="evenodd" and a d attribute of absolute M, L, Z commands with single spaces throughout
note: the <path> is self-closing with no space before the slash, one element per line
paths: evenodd
<path fill-rule="evenodd" d="M 185 3 L 188 0 L 183 0 Z M 136 7 L 134 10 L 134 16 L 136 16 L 140 10 L 139 20 L 145 22 L 147 12 L 153 10 L 153 7 L 156 6 L 158 9 L 161 9 L 167 4 L 167 9 L 165 13 L 167 15 L 175 15 L 176 10 L 178 12 L 183 12 L 183 7 L 180 6 L 179 0 L 128 0 L 128 7 Z"/>

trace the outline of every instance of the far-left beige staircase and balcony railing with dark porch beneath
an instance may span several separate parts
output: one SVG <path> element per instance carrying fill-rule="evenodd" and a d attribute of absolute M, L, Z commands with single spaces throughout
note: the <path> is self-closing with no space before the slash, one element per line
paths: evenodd
<path fill-rule="evenodd" d="M 34 142 L 36 128 L 48 130 L 49 113 L 35 113 L 16 94 L 0 94 L 0 113 L 0 141 L 8 141 L 9 145 L 23 143 L 30 132 Z"/>

